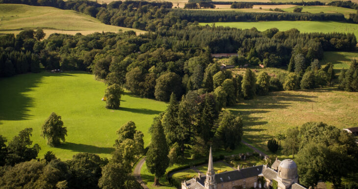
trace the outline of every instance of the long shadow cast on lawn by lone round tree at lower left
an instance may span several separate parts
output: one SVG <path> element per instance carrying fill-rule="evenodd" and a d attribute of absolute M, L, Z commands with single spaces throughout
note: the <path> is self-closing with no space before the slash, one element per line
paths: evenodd
<path fill-rule="evenodd" d="M 92 154 L 110 154 L 114 151 L 114 148 L 109 147 L 97 147 L 87 144 L 76 144 L 72 142 L 64 142 L 57 148 L 64 150 L 71 150 L 73 152 L 87 152 Z"/>

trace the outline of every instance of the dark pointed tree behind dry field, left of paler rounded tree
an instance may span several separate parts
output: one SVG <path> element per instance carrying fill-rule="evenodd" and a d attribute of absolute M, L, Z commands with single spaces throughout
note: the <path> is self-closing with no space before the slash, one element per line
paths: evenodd
<path fill-rule="evenodd" d="M 247 69 L 242 79 L 242 94 L 244 99 L 253 99 L 256 94 L 256 78 L 255 73 L 251 69 Z"/>

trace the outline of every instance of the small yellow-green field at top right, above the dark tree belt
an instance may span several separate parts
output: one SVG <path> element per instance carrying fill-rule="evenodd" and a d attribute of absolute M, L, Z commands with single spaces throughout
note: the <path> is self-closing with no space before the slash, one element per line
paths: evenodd
<path fill-rule="evenodd" d="M 343 8 L 337 6 L 296 6 L 302 7 L 302 12 L 309 12 L 309 13 L 342 13 L 346 18 L 349 18 L 349 14 L 356 14 L 357 10 L 351 8 Z M 286 12 L 293 12 L 293 9 L 296 7 L 291 8 L 283 8 L 282 10 Z"/>

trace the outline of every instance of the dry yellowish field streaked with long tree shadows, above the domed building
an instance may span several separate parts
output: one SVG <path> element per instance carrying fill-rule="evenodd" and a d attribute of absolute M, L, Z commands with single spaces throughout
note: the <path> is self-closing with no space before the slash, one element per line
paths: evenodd
<path fill-rule="evenodd" d="M 324 122 L 340 129 L 358 127 L 357 99 L 355 92 L 318 88 L 271 92 L 229 109 L 243 116 L 244 139 L 268 152 L 270 138 L 306 122 Z"/>

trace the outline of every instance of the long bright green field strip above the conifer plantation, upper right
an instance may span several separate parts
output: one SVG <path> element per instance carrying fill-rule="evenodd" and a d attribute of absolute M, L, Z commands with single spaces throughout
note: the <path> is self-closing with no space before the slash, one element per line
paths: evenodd
<path fill-rule="evenodd" d="M 213 23 L 200 23 L 200 25 L 212 25 Z M 276 27 L 280 31 L 297 28 L 301 32 L 344 32 L 354 33 L 358 36 L 358 25 L 332 21 L 269 21 L 269 22 L 216 22 L 215 26 L 237 27 L 250 29 L 256 27 L 259 31 Z"/>

